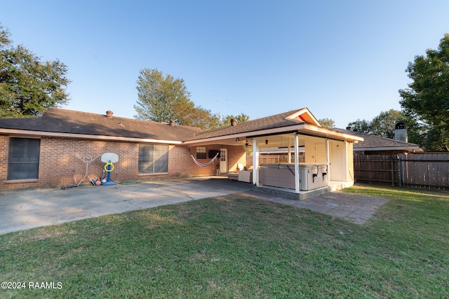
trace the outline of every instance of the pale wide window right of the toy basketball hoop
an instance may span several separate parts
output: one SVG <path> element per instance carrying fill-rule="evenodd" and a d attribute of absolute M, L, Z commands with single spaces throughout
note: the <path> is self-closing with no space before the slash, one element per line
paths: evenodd
<path fill-rule="evenodd" d="M 139 144 L 139 174 L 168 172 L 168 145 Z"/>

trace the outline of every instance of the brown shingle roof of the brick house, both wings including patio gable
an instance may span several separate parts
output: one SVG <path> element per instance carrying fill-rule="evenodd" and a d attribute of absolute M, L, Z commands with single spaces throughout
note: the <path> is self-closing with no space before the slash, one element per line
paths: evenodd
<path fill-rule="evenodd" d="M 250 135 L 264 130 L 292 127 L 312 123 L 319 125 L 307 108 L 287 111 L 274 116 L 267 116 L 255 120 L 248 120 L 236 126 L 220 127 L 214 130 L 203 131 L 197 127 L 183 125 L 171 126 L 165 123 L 155 123 L 147 120 L 135 120 L 113 116 L 72 111 L 60 108 L 49 108 L 40 118 L 3 118 L 0 119 L 0 132 L 5 130 L 25 130 L 28 132 L 49 132 L 54 134 L 71 134 L 83 138 L 114 137 L 126 139 L 153 139 L 160 141 L 196 141 L 213 137 L 227 137 L 234 134 Z M 6 132 L 4 130 L 4 132 Z M 337 131 L 337 130 L 335 130 Z M 343 130 L 351 136 L 356 132 Z M 338 131 L 337 131 L 338 132 Z M 340 132 L 339 132 L 340 133 Z M 30 133 L 31 134 L 31 133 Z M 326 133 L 327 134 L 327 133 Z M 81 136 L 83 135 L 83 136 Z M 365 136 L 363 136 L 365 137 Z"/>

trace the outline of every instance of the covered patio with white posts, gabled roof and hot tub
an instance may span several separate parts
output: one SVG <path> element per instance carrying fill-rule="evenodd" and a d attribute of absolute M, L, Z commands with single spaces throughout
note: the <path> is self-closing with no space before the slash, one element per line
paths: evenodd
<path fill-rule="evenodd" d="M 241 171 L 239 166 L 246 166 L 246 154 L 251 152 L 253 167 L 247 171 L 252 172 L 250 182 L 253 185 L 293 193 L 301 198 L 308 193 L 316 195 L 352 186 L 353 143 L 358 141 L 363 141 L 363 138 L 321 127 L 311 112 L 304 108 L 234 123 L 230 127 L 198 134 L 184 144 L 219 145 L 220 169 L 222 165 L 226 169 L 226 172 L 220 170 L 221 174 Z M 235 148 L 240 148 L 240 151 Z M 283 148 L 288 153 L 288 160 L 260 163 L 260 151 L 264 148 Z M 229 156 L 228 152 L 237 157 Z"/>

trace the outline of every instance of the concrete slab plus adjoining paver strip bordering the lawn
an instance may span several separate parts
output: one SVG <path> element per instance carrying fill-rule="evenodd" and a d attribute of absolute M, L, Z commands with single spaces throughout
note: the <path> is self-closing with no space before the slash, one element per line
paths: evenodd
<path fill-rule="evenodd" d="M 135 185 L 80 186 L 0 191 L 0 235 L 18 230 L 80 219 L 147 209 L 206 197 L 245 193 L 260 200 L 311 209 L 363 224 L 388 200 L 380 197 L 332 192 L 307 200 L 255 190 L 251 183 L 228 181 L 220 176 L 142 181 Z"/>

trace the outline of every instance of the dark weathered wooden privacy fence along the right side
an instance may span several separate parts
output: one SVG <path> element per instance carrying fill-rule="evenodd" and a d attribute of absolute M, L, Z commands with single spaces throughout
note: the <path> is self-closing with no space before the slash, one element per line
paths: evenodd
<path fill-rule="evenodd" d="M 356 182 L 449 189 L 449 153 L 354 155 Z"/>

